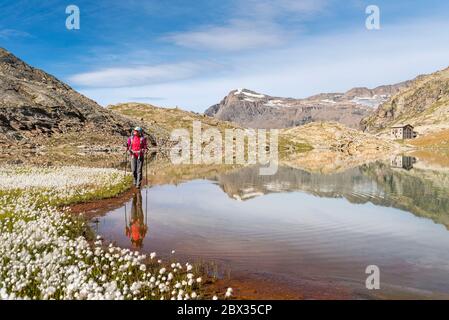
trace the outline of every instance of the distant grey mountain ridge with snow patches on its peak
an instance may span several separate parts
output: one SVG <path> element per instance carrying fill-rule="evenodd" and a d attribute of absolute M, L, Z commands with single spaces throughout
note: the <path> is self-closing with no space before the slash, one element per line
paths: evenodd
<path fill-rule="evenodd" d="M 323 93 L 306 99 L 280 98 L 247 89 L 231 91 L 205 114 L 252 128 L 287 128 L 315 121 L 337 121 L 359 128 L 362 118 L 408 82 L 375 89 L 354 88 L 346 93 Z"/>

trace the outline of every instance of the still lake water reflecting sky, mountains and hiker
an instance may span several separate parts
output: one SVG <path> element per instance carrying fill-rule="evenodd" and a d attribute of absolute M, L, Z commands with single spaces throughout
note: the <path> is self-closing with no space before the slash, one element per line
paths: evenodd
<path fill-rule="evenodd" d="M 120 246 L 216 261 L 301 291 L 314 281 L 380 297 L 449 297 L 449 171 L 404 157 L 335 174 L 257 167 L 149 187 L 108 212 L 98 233 Z M 376 293 L 377 294 L 377 293 Z"/>

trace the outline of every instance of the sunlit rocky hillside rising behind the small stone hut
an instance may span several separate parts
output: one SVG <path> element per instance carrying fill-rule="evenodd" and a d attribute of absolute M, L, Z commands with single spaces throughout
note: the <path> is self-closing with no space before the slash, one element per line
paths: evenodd
<path fill-rule="evenodd" d="M 361 123 L 384 134 L 396 124 L 411 124 L 421 136 L 449 128 L 449 68 L 417 77 Z"/>

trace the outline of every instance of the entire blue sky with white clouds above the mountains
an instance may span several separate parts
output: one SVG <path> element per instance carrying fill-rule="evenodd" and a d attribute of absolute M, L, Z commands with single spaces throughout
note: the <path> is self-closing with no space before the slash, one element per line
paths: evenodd
<path fill-rule="evenodd" d="M 365 28 L 371 4 L 380 30 Z M 240 87 L 306 97 L 446 68 L 448 31 L 443 0 L 0 2 L 0 46 L 100 104 L 198 112 Z"/>

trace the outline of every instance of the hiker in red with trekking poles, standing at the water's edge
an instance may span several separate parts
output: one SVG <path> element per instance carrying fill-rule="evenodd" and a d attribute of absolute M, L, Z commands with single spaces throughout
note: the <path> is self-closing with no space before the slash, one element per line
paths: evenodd
<path fill-rule="evenodd" d="M 128 138 L 127 152 L 131 155 L 131 171 L 133 173 L 133 184 L 140 189 L 142 183 L 143 162 L 145 153 L 148 151 L 147 139 L 140 127 L 134 128 L 131 137 Z"/>

